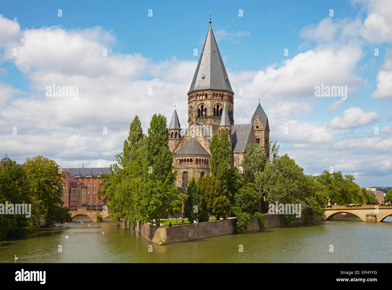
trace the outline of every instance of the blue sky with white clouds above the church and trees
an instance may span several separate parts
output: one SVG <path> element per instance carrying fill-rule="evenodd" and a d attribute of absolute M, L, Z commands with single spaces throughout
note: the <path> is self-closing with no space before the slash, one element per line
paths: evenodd
<path fill-rule="evenodd" d="M 108 166 L 135 114 L 146 131 L 153 113 L 171 118 L 176 104 L 185 125 L 186 93 L 211 12 L 235 93 L 235 124 L 250 122 L 261 98 L 270 139 L 306 173 L 332 166 L 354 174 L 361 186 L 390 186 L 391 5 L 387 0 L 3 1 L 0 150 L 18 162 L 40 154 L 63 167 Z M 104 48 L 107 57 L 100 53 Z M 48 98 L 45 88 L 52 83 L 78 86 L 81 97 Z M 347 100 L 315 97 L 321 83 L 347 86 Z M 103 127 L 108 134 L 102 134 Z"/>

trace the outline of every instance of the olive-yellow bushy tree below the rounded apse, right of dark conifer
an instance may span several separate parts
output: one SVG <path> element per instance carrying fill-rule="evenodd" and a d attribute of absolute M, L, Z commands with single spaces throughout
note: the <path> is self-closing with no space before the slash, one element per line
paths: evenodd
<path fill-rule="evenodd" d="M 197 193 L 203 208 L 210 214 L 216 215 L 216 219 L 225 218 L 230 212 L 230 201 L 222 194 L 219 181 L 207 174 L 196 181 Z"/>

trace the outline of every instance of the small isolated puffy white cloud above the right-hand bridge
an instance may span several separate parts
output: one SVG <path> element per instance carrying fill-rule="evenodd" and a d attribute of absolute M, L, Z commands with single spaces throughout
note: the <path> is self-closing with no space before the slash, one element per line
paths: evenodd
<path fill-rule="evenodd" d="M 377 117 L 376 112 L 365 113 L 361 108 L 351 107 L 343 112 L 343 117 L 335 117 L 329 124 L 332 128 L 351 129 L 370 124 Z"/>

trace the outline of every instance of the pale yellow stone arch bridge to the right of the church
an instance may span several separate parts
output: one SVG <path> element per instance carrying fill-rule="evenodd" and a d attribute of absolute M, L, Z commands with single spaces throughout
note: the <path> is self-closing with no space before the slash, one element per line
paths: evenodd
<path fill-rule="evenodd" d="M 392 215 L 392 206 L 368 204 L 361 206 L 337 205 L 325 209 L 325 220 L 331 219 L 339 212 L 349 212 L 359 217 L 364 222 L 382 222 L 388 215 Z"/>

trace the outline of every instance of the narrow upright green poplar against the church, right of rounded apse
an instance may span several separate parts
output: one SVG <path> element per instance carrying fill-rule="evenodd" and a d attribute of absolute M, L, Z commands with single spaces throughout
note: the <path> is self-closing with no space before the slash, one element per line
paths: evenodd
<path fill-rule="evenodd" d="M 231 163 L 231 148 L 228 139 L 228 131 L 222 130 L 220 137 L 216 134 L 212 136 L 210 144 L 210 167 L 212 176 L 221 180 L 223 175 L 229 170 Z"/>

